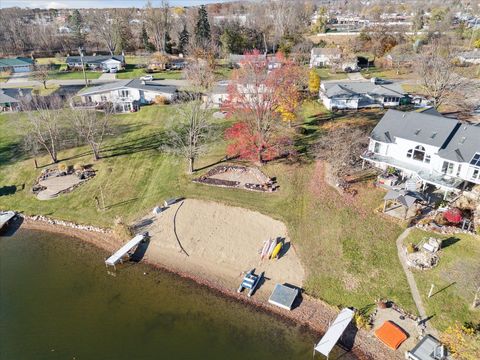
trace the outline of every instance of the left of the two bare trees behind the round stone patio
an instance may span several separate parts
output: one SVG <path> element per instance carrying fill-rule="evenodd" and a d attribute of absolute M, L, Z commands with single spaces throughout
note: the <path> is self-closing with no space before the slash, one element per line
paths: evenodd
<path fill-rule="evenodd" d="M 65 136 L 65 110 L 58 97 L 35 97 L 22 104 L 27 111 L 27 141 L 32 149 L 43 148 L 52 162 L 58 162 L 58 150 Z"/>

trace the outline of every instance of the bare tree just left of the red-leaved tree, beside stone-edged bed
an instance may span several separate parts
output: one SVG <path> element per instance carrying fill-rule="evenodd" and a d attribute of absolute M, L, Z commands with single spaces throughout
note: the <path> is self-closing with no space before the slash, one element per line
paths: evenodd
<path fill-rule="evenodd" d="M 211 119 L 211 110 L 195 95 L 177 109 L 179 125 L 170 132 L 167 150 L 182 155 L 188 161 L 190 174 L 195 170 L 195 161 L 207 150 L 213 129 Z"/>

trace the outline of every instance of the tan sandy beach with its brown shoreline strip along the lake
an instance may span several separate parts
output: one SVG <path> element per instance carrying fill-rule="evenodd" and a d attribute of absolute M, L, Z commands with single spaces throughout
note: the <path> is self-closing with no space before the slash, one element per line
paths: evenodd
<path fill-rule="evenodd" d="M 113 232 L 91 232 L 28 218 L 21 226 L 76 237 L 109 252 L 123 243 Z M 301 287 L 305 277 L 294 244 L 287 245 L 287 251 L 278 260 L 261 261 L 259 251 L 265 239 L 281 237 L 285 244 L 290 243 L 285 225 L 268 216 L 219 203 L 188 199 L 158 215 L 149 214 L 141 218 L 136 230 L 149 231 L 151 235 L 142 261 L 208 286 L 219 295 L 235 298 L 248 306 L 307 326 L 319 336 L 338 314 L 335 307 L 306 294 L 302 294 L 292 311 L 267 302 L 275 283 Z M 236 289 L 242 272 L 253 267 L 256 271 L 265 271 L 267 279 L 258 292 L 248 298 L 245 294 L 238 294 Z M 351 349 L 359 359 L 403 359 L 402 353 L 389 350 L 372 332 L 356 330 L 353 325 L 347 329 L 341 345 Z"/>

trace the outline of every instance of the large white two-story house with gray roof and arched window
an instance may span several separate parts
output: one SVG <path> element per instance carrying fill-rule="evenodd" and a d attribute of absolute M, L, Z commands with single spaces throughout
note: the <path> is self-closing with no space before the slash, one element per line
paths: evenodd
<path fill-rule="evenodd" d="M 423 186 L 457 192 L 480 184 L 480 125 L 460 122 L 436 111 L 388 110 L 370 135 L 365 161 Z"/>

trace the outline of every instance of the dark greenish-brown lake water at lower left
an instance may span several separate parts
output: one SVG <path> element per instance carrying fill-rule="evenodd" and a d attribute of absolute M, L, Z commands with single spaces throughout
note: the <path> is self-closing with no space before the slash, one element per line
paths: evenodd
<path fill-rule="evenodd" d="M 113 277 L 106 255 L 46 232 L 1 236 L 0 359 L 312 358 L 303 328 L 147 265 Z"/>

